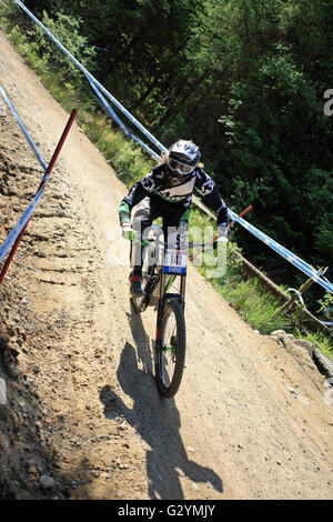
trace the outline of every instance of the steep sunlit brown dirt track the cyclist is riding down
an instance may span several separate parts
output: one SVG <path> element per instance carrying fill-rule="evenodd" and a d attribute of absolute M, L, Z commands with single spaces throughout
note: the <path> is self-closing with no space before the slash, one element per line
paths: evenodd
<path fill-rule="evenodd" d="M 68 114 L 0 33 L 0 81 L 48 162 Z M 0 118 L 0 242 L 42 172 Z M 125 187 L 74 126 L 0 287 L 0 498 L 330 499 L 333 406 L 305 350 L 254 332 L 190 268 L 175 399 L 132 312 Z"/>

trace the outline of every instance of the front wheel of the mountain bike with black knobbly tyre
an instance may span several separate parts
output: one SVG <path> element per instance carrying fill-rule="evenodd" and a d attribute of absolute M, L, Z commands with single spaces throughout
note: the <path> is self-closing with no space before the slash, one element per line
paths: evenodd
<path fill-rule="evenodd" d="M 160 393 L 170 399 L 179 390 L 185 364 L 185 320 L 176 300 L 167 302 L 158 340 L 157 379 Z"/>

